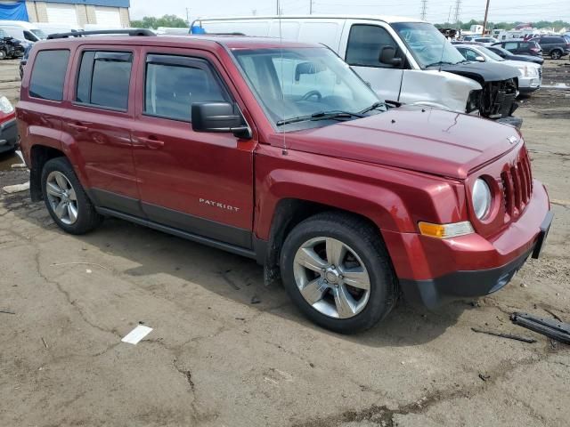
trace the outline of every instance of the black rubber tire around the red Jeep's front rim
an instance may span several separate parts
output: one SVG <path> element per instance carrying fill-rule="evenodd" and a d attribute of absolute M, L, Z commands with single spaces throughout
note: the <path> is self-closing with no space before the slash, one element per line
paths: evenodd
<path fill-rule="evenodd" d="M 350 246 L 370 277 L 369 300 L 351 318 L 331 318 L 314 307 L 299 291 L 294 274 L 297 250 L 312 238 L 334 238 Z M 281 278 L 289 297 L 317 325 L 340 334 L 354 334 L 376 325 L 395 307 L 398 282 L 379 230 L 369 222 L 344 213 L 316 214 L 290 231 L 281 249 Z"/>

